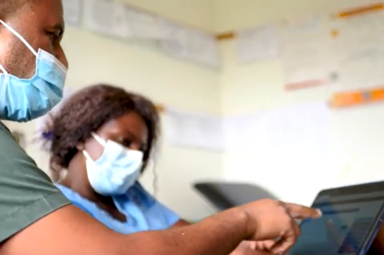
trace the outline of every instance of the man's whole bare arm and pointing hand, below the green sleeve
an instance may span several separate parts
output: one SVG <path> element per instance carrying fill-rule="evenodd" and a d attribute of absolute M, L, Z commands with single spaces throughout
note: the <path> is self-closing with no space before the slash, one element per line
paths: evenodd
<path fill-rule="evenodd" d="M 11 237 L 1 245 L 0 254 L 224 255 L 230 254 L 242 240 L 276 238 L 279 242 L 271 248 L 271 253 L 283 254 L 299 234 L 293 217 L 316 218 L 319 214 L 307 207 L 259 200 L 185 227 L 121 235 L 68 205 Z M 245 252 L 248 251 L 252 252 Z M 262 255 L 260 252 L 248 254 Z"/>

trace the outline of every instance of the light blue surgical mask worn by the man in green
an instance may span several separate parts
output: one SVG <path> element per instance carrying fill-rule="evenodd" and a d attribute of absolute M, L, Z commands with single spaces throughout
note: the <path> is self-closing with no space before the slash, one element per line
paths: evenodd
<path fill-rule="evenodd" d="M 27 122 L 45 115 L 63 98 L 67 68 L 52 54 L 34 48 L 12 27 L 0 20 L 36 56 L 36 70 L 30 79 L 8 74 L 0 64 L 0 119 Z"/>

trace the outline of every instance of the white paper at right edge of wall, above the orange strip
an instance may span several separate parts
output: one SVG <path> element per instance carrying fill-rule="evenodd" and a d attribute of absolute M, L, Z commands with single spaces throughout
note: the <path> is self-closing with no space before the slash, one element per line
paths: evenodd
<path fill-rule="evenodd" d="M 384 11 L 335 19 L 330 33 L 334 91 L 384 85 Z"/>

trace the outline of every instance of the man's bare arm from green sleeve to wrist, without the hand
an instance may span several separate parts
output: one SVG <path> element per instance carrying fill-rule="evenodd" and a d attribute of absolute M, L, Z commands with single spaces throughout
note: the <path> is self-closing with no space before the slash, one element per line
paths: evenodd
<path fill-rule="evenodd" d="M 231 209 L 189 226 L 121 235 L 68 205 L 11 237 L 0 255 L 226 255 L 245 239 L 246 222 Z"/>

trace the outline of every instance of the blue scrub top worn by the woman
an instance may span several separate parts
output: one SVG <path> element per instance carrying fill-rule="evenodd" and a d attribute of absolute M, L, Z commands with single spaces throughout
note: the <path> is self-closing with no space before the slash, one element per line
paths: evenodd
<path fill-rule="evenodd" d="M 56 183 L 56 187 L 72 204 L 118 233 L 131 234 L 146 230 L 163 230 L 180 220 L 174 211 L 155 200 L 138 182 L 129 188 L 125 195 L 113 197 L 117 209 L 127 216 L 126 222 L 113 218 L 94 202 L 85 199 L 70 188 L 58 183 Z"/>

